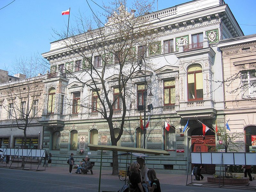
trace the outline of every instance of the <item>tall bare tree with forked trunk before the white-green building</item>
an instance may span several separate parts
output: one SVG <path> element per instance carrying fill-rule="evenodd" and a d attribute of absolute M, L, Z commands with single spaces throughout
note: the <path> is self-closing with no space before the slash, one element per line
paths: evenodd
<path fill-rule="evenodd" d="M 73 66 L 66 64 L 66 77 L 76 79 L 92 90 L 78 105 L 85 113 L 93 111 L 103 116 L 108 123 L 111 143 L 115 146 L 123 134 L 127 106 L 132 107 L 132 78 L 139 69 L 138 60 L 143 58 L 147 49 L 149 52 L 155 51 L 154 47 L 149 46 L 157 38 L 157 33 L 149 29 L 151 24 L 145 15 L 145 12 L 151 12 L 152 4 L 136 1 L 133 4 L 136 11 L 132 9 L 128 12 L 125 3 L 115 1 L 111 6 L 103 6 L 105 13 L 100 15 L 108 18 L 106 23 L 99 19 L 98 13 L 93 12 L 93 20 L 84 19 L 80 14 L 77 28 L 69 30 L 70 37 L 57 33 L 63 39 L 59 41 L 60 44 L 72 52 L 77 60 L 82 58 L 79 61 L 82 63 L 74 60 Z M 137 52 L 135 47 L 138 46 L 140 49 Z M 149 60 L 146 63 L 148 67 L 152 66 Z M 54 67 L 51 72 L 56 72 L 57 68 Z M 84 72 L 79 75 L 73 73 L 77 68 Z M 148 72 L 144 75 L 148 75 Z M 93 98 L 95 100 L 91 102 Z M 69 105 L 74 106 L 74 102 L 70 101 Z M 112 121 L 116 109 L 122 109 L 118 136 L 115 136 Z M 113 151 L 113 174 L 118 174 L 116 155 L 117 151 Z"/>

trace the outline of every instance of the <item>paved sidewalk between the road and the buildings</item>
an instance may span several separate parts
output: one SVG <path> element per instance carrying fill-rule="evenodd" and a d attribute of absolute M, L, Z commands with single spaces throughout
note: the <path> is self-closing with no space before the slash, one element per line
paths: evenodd
<path fill-rule="evenodd" d="M 10 166 L 10 164 L 7 164 Z M 39 165 L 38 171 L 44 172 L 43 164 Z M 12 164 L 12 168 L 17 166 L 17 164 Z M 36 170 L 38 165 L 32 164 L 32 167 L 30 164 L 27 164 L 25 169 L 28 170 L 30 168 Z M 4 164 L 0 164 L 0 168 L 5 167 Z M 6 167 L 5 167 L 6 168 Z M 69 166 L 54 166 L 52 164 L 52 167 L 50 165 L 48 167 L 45 167 L 45 172 L 50 174 L 59 174 L 59 175 L 70 175 L 72 177 L 92 177 L 92 178 L 100 178 L 100 170 L 98 167 L 93 167 L 93 175 L 91 175 L 91 172 L 89 171 L 88 174 L 76 174 L 76 169 L 72 170 L 72 174 L 69 174 Z M 239 173 L 238 173 L 239 174 Z M 177 174 L 160 174 L 156 173 L 157 178 L 160 181 L 160 184 L 169 184 L 169 185 L 196 185 L 196 186 L 212 186 L 212 187 L 218 187 L 218 184 L 212 185 L 207 181 L 207 177 L 212 177 L 212 175 L 206 175 L 204 174 L 204 179 L 197 181 L 194 180 L 195 176 L 188 175 L 188 181 L 187 181 L 187 175 L 177 175 Z M 256 174 L 252 174 L 252 176 L 256 177 Z M 101 179 L 111 179 L 111 180 L 119 180 L 117 175 L 112 175 L 112 170 L 101 170 Z M 128 179 L 127 179 L 128 180 Z M 237 186 L 234 186 L 235 188 Z M 249 181 L 249 187 L 255 188 L 256 187 L 256 180 Z M 244 189 L 249 189 L 249 187 L 243 186 Z"/>

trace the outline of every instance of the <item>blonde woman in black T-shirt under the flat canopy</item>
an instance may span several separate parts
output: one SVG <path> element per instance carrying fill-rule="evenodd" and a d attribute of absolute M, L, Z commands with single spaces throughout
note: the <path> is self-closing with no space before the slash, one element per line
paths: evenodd
<path fill-rule="evenodd" d="M 140 164 L 133 162 L 130 165 L 130 192 L 143 192 L 143 187 L 141 185 L 141 176 L 140 176 Z"/>

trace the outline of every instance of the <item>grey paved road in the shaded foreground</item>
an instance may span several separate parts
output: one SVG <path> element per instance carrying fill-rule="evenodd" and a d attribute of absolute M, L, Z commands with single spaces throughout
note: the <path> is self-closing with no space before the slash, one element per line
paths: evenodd
<path fill-rule="evenodd" d="M 81 177 L 77 174 L 52 174 L 25 170 L 0 168 L 0 191 L 8 192 L 96 192 L 99 188 L 99 179 Z M 118 191 L 124 181 L 116 179 L 101 179 L 100 191 Z M 161 184 L 162 192 L 241 192 L 241 190 L 210 188 L 202 186 L 181 186 Z"/>

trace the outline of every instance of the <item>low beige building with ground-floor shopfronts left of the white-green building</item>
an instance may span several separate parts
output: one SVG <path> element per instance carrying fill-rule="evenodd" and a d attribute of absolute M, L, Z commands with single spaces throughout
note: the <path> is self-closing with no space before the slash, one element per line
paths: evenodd
<path fill-rule="evenodd" d="M 24 129 L 25 148 L 42 148 L 42 79 L 42 75 L 29 79 L 24 76 L 0 84 L 0 148 L 23 148 Z"/>

